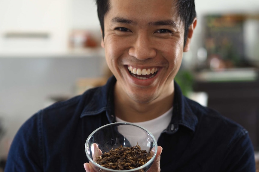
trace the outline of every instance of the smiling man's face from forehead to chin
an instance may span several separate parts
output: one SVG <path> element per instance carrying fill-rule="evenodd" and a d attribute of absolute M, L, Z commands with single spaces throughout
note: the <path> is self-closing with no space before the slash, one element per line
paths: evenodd
<path fill-rule="evenodd" d="M 176 2 L 110 0 L 102 46 L 117 79 L 115 92 L 129 101 L 148 103 L 173 93 L 173 79 L 188 49 Z"/>

